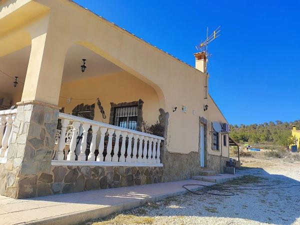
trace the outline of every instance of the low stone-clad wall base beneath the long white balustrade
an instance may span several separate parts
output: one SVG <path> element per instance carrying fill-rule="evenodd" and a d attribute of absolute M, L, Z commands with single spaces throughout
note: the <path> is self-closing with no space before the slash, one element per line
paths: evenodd
<path fill-rule="evenodd" d="M 19 197 L 71 193 L 161 182 L 162 167 L 51 166 L 50 172 L 27 177 Z"/>

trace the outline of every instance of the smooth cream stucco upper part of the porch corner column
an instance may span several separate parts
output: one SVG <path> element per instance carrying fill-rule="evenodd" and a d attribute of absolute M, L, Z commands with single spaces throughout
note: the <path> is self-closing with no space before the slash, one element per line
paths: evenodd
<path fill-rule="evenodd" d="M 57 105 L 69 46 L 67 36 L 59 35 L 48 16 L 28 31 L 32 37 L 31 51 L 21 101 L 38 100 Z"/>

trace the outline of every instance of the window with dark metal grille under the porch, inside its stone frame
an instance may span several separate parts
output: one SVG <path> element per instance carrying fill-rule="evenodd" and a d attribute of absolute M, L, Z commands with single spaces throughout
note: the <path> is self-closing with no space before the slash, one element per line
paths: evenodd
<path fill-rule="evenodd" d="M 114 125 L 136 130 L 137 105 L 115 107 Z"/>

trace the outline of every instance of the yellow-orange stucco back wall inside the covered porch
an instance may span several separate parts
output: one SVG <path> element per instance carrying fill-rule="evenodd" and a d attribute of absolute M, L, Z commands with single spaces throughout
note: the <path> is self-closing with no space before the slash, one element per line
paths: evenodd
<path fill-rule="evenodd" d="M 109 123 L 110 102 L 121 103 L 142 99 L 144 101 L 142 108 L 143 120 L 149 122 L 149 124 L 153 124 L 158 120 L 159 103 L 155 90 L 126 71 L 63 83 L 60 88 L 60 96 L 81 99 L 99 97 L 106 119 L 102 118 L 95 99 L 72 99 L 71 103 L 67 104 L 65 98 L 59 98 L 58 106 L 64 107 L 64 112 L 71 114 L 72 109 L 77 104 L 95 103 L 94 120 L 106 123 Z"/>

